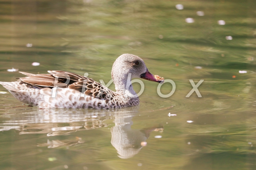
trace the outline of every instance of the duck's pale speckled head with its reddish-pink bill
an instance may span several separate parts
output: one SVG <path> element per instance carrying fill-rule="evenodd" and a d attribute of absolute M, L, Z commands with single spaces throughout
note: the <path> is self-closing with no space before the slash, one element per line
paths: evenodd
<path fill-rule="evenodd" d="M 129 73 L 131 78 L 142 78 L 158 83 L 164 81 L 160 76 L 151 74 L 140 57 L 132 54 L 120 55 L 112 67 L 111 76 L 114 84 L 125 83 Z"/>

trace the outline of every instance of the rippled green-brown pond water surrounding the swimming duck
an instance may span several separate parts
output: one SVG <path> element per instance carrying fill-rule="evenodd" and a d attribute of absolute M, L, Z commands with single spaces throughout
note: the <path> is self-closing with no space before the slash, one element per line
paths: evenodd
<path fill-rule="evenodd" d="M 0 81 L 23 77 L 7 71 L 15 68 L 87 72 L 106 84 L 130 53 L 176 90 L 161 98 L 158 83 L 142 80 L 139 107 L 108 111 L 38 110 L 1 93 L 0 169 L 256 169 L 255 19 L 254 0 L 1 0 Z M 190 79 L 204 80 L 202 98 L 186 98 Z"/>

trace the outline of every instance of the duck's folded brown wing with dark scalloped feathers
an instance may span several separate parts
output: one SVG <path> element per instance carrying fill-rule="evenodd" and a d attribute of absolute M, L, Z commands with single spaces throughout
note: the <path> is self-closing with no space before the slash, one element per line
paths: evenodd
<path fill-rule="evenodd" d="M 28 77 L 18 78 L 23 83 L 44 88 L 62 87 L 77 90 L 87 96 L 100 99 L 109 99 L 115 96 L 114 92 L 102 84 L 85 76 L 70 73 L 67 71 L 48 71 L 50 74 L 30 74 L 21 72 Z"/>

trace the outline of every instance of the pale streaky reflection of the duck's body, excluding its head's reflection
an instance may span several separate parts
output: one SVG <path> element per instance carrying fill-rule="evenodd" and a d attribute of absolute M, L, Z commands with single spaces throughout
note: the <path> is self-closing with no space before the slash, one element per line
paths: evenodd
<path fill-rule="evenodd" d="M 108 113 L 93 110 L 49 109 L 21 114 L 1 115 L 0 131 L 19 130 L 19 134 L 69 135 L 72 132 L 103 128 Z"/>

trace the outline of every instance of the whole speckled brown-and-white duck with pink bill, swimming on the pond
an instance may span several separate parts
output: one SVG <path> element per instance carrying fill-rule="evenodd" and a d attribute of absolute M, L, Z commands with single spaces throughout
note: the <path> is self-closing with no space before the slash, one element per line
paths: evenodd
<path fill-rule="evenodd" d="M 111 77 L 116 91 L 85 76 L 68 71 L 48 74 L 20 72 L 27 77 L 15 82 L 0 82 L 17 100 L 39 109 L 95 108 L 109 109 L 139 105 L 131 79 L 162 83 L 164 78 L 151 74 L 144 61 L 132 54 L 120 55 L 113 64 Z"/>

